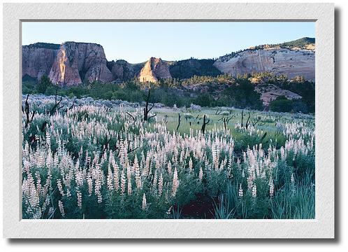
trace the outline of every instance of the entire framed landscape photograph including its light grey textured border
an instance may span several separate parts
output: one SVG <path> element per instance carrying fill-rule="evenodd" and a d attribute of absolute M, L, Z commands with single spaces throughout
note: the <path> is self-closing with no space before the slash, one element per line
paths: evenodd
<path fill-rule="evenodd" d="M 8 3 L 6 238 L 329 238 L 331 3 Z"/>

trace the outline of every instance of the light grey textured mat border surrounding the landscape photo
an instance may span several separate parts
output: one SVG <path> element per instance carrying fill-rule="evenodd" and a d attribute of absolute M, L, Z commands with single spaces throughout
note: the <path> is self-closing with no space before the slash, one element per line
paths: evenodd
<path fill-rule="evenodd" d="M 314 220 L 22 220 L 21 22 L 316 22 Z M 5 3 L 3 5 L 3 237 L 334 238 L 333 3 Z"/>

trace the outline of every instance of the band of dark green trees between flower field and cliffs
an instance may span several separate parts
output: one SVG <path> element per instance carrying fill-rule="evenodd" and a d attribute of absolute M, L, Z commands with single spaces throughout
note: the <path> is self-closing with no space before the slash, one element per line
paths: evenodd
<path fill-rule="evenodd" d="M 261 94 L 255 91 L 257 84 L 252 78 L 261 78 L 263 83 L 273 84 L 284 90 L 299 94 L 302 99 L 289 100 L 278 97 L 270 102 L 271 111 L 314 113 L 314 83 L 303 78 L 289 80 L 286 76 L 274 76 L 272 73 L 250 73 L 233 77 L 229 74 L 218 76 L 192 76 L 184 80 L 179 78 L 160 79 L 158 83 L 140 83 L 136 78 L 122 83 L 83 83 L 71 87 L 53 85 L 48 76 L 42 76 L 38 83 L 26 79 L 22 82 L 23 94 L 41 93 L 67 97 L 92 97 L 93 99 L 121 99 L 128 102 L 145 102 L 150 88 L 151 102 L 166 106 L 182 107 L 197 104 L 199 106 L 233 106 L 240 109 L 263 110 Z M 196 89 L 187 89 L 187 85 L 196 85 Z M 206 88 L 208 87 L 208 90 Z M 222 87 L 222 88 L 218 88 Z"/>

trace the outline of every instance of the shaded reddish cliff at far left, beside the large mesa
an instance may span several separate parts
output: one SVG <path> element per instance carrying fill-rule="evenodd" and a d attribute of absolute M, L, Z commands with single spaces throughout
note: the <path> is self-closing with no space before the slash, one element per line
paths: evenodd
<path fill-rule="evenodd" d="M 22 77 L 30 76 L 39 80 L 50 73 L 59 45 L 35 43 L 22 46 Z"/>

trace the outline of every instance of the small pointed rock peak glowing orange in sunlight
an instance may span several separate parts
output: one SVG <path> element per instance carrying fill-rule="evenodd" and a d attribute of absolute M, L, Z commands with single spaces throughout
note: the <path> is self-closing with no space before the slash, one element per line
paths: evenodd
<path fill-rule="evenodd" d="M 151 57 L 139 74 L 140 82 L 157 83 L 159 79 L 172 78 L 168 64 L 161 58 Z"/>

